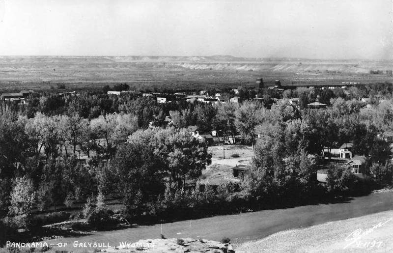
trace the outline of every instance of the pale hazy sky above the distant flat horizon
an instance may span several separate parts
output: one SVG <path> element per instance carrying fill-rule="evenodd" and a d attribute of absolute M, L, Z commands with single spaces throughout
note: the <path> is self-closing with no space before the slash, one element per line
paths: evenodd
<path fill-rule="evenodd" d="M 0 55 L 391 59 L 392 0 L 0 0 Z"/>

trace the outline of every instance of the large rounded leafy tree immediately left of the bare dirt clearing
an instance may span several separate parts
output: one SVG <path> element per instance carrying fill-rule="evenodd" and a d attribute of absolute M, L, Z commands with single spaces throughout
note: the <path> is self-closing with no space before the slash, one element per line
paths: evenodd
<path fill-rule="evenodd" d="M 179 188 L 211 163 L 207 143 L 173 127 L 138 130 L 119 147 L 111 162 L 115 182 L 128 206 L 158 197 L 170 180 Z"/>

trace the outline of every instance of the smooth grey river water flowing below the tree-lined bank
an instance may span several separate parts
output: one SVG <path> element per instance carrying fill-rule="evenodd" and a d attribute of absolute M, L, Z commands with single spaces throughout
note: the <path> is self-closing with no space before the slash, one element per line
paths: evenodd
<path fill-rule="evenodd" d="M 53 245 L 67 243 L 68 246 L 62 250 L 72 251 L 75 241 L 78 243 L 109 243 L 109 245 L 115 246 L 123 241 L 137 242 L 140 239 L 160 238 L 160 234 L 163 234 L 166 238 L 195 238 L 215 241 L 229 237 L 231 243 L 239 245 L 288 229 L 319 225 L 388 210 L 393 210 L 393 192 L 354 197 L 339 203 L 263 210 L 162 225 L 143 225 L 114 231 L 91 232 L 86 236 L 58 238 L 47 242 Z"/>

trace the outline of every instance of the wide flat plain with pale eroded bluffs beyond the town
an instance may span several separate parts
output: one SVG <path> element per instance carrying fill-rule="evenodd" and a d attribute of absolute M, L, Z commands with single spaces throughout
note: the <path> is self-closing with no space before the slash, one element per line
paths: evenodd
<path fill-rule="evenodd" d="M 100 89 L 127 83 L 135 89 L 191 90 L 252 86 L 392 82 L 389 60 L 240 58 L 233 56 L 0 56 L 0 92 L 21 89 Z M 377 71 L 371 74 L 370 71 Z"/>

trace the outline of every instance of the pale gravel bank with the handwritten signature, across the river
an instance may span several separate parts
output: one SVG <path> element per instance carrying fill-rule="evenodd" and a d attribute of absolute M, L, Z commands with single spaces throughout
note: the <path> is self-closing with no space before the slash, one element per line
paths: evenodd
<path fill-rule="evenodd" d="M 393 252 L 393 211 L 282 231 L 236 247 L 237 253 Z"/>

